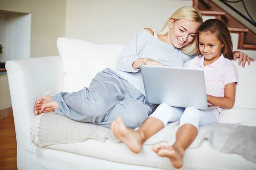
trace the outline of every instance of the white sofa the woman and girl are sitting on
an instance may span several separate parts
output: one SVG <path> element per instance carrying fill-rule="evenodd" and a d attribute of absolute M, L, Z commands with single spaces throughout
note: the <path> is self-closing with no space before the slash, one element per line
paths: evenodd
<path fill-rule="evenodd" d="M 134 154 L 122 143 L 88 139 L 73 144 L 50 145 L 37 153 L 31 142 L 30 128 L 36 118 L 34 105 L 38 97 L 61 91 L 77 91 L 90 83 L 105 67 L 114 67 L 124 45 L 96 45 L 81 40 L 61 38 L 57 42 L 60 56 L 6 62 L 17 137 L 19 170 L 173 170 L 168 159 L 158 157 L 151 146 Z M 220 122 L 256 126 L 256 63 L 242 68 L 234 61 L 238 73 L 237 98 L 233 109 L 223 111 Z M 244 96 L 243 96 L 244 95 Z M 168 134 L 166 134 L 168 135 Z M 220 153 L 204 141 L 189 149 L 183 170 L 256 170 L 256 164 L 237 154 Z"/>

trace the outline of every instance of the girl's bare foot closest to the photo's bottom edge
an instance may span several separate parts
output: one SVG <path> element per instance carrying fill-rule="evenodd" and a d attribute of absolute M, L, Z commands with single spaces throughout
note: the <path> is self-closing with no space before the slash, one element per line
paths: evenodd
<path fill-rule="evenodd" d="M 181 168 L 183 166 L 184 150 L 182 147 L 153 146 L 152 150 L 156 152 L 158 156 L 169 158 L 172 162 L 173 167 Z"/>

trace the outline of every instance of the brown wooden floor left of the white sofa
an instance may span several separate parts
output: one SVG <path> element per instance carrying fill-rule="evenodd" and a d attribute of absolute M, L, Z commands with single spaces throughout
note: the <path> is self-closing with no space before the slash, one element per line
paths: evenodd
<path fill-rule="evenodd" d="M 17 170 L 17 143 L 13 116 L 0 119 L 0 170 Z"/>

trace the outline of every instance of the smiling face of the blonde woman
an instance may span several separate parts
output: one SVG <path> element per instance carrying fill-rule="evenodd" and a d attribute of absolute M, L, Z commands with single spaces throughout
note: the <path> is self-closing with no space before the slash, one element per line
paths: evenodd
<path fill-rule="evenodd" d="M 182 48 L 192 42 L 200 23 L 187 19 L 170 20 L 169 42 L 176 48 Z"/>

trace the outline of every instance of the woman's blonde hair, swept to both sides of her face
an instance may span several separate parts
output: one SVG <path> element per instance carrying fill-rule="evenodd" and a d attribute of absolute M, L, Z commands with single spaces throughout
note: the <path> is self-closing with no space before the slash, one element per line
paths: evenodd
<path fill-rule="evenodd" d="M 191 6 L 184 6 L 179 8 L 171 17 L 166 21 L 165 25 L 162 28 L 162 31 L 158 32 L 157 35 L 163 36 L 168 33 L 170 30 L 170 20 L 173 19 L 174 22 L 180 19 L 192 20 L 198 23 L 203 23 L 203 18 L 200 11 L 197 8 Z M 193 55 L 196 53 L 195 39 L 190 42 L 188 45 L 180 48 L 184 54 Z"/>

